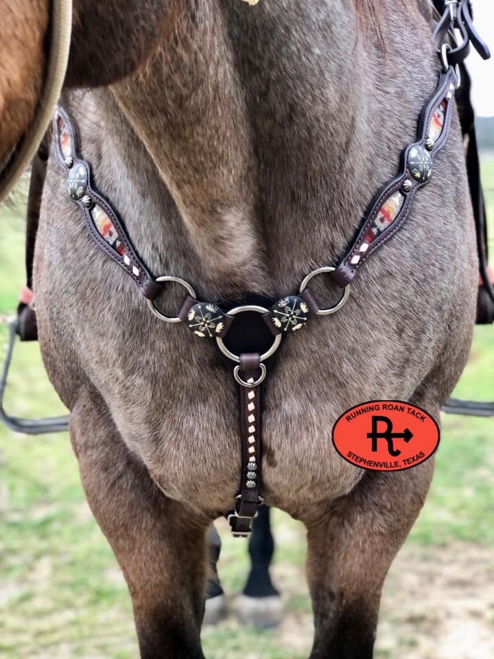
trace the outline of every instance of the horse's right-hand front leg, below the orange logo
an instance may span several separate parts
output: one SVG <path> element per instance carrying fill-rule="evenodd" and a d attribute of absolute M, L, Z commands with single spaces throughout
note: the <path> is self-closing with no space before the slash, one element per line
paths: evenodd
<path fill-rule="evenodd" d="M 304 520 L 315 623 L 309 659 L 372 659 L 384 578 L 432 472 L 432 461 L 404 472 L 368 472 L 351 494 Z"/>

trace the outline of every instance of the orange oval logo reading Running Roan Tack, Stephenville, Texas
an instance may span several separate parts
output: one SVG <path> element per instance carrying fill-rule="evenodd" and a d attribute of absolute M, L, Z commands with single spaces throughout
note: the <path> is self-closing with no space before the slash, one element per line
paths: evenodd
<path fill-rule="evenodd" d="M 362 469 L 395 472 L 430 458 L 439 446 L 439 426 L 425 410 L 399 400 L 352 407 L 333 427 L 333 444 Z"/>

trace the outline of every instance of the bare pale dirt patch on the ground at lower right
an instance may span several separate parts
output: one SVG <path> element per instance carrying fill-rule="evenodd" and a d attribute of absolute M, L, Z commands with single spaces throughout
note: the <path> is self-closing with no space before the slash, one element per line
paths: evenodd
<path fill-rule="evenodd" d="M 288 577 L 287 568 L 274 567 L 280 586 Z M 280 636 L 283 645 L 306 651 L 312 638 L 309 612 L 287 612 Z M 447 550 L 405 546 L 386 579 L 376 655 L 494 658 L 493 551 L 465 544 Z"/>

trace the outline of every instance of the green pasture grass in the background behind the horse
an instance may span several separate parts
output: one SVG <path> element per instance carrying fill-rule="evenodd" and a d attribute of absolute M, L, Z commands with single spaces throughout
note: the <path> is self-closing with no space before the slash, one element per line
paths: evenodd
<path fill-rule="evenodd" d="M 494 188 L 494 160 L 484 163 Z M 494 195 L 489 193 L 494 217 Z M 0 315 L 12 313 L 23 284 L 23 219 L 3 209 Z M 0 329 L 0 351 L 5 347 Z M 475 330 L 471 360 L 458 385 L 462 397 L 494 398 L 494 328 Z M 17 347 L 10 411 L 63 413 L 36 345 Z M 494 421 L 444 417 L 434 483 L 408 544 L 423 548 L 494 541 Z M 274 573 L 287 594 L 287 612 L 309 629 L 311 605 L 303 583 L 302 527 L 275 513 L 279 542 Z M 0 657 L 111 658 L 137 656 L 126 585 L 84 500 L 66 434 L 25 437 L 0 428 Z M 223 534 L 220 571 L 228 592 L 242 589 L 246 546 Z M 447 550 L 445 550 L 447 551 Z M 214 659 L 300 659 L 307 656 L 276 630 L 254 632 L 233 619 L 203 634 Z M 382 650 L 378 656 L 391 656 Z"/>

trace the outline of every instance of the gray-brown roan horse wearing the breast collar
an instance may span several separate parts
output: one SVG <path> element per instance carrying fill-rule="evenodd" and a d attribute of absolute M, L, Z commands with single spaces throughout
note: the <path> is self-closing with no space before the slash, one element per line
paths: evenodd
<path fill-rule="evenodd" d="M 143 261 L 201 299 L 276 299 L 332 265 L 436 88 L 421 0 L 75 0 L 64 107 Z M 266 387 L 261 494 L 307 527 L 311 659 L 373 655 L 381 587 L 433 472 L 365 472 L 331 428 L 373 399 L 439 421 L 467 360 L 475 235 L 455 115 L 434 180 L 344 309 L 289 336 Z M 203 658 L 209 524 L 239 485 L 237 399 L 210 343 L 160 323 L 98 251 L 49 158 L 34 288 L 89 505 L 145 659 Z M 338 294 L 325 277 L 314 292 Z M 183 291 L 157 305 L 176 314 Z M 62 474 L 61 474 L 62 477 Z"/>

